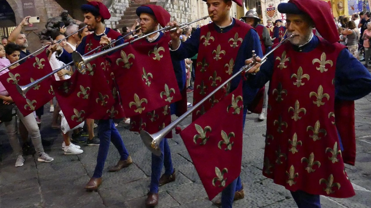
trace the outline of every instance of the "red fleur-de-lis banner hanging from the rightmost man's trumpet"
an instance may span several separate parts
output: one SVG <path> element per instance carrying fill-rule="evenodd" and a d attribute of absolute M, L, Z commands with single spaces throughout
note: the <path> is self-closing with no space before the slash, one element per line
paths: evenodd
<path fill-rule="evenodd" d="M 180 133 L 210 200 L 240 175 L 242 108 L 241 82 Z"/>

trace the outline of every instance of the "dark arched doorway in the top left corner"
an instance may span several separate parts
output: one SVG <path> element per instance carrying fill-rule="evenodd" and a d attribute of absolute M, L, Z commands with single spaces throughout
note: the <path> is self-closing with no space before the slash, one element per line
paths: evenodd
<path fill-rule="evenodd" d="M 16 28 L 16 17 L 6 0 L 0 0 L 0 37 L 7 37 Z"/>

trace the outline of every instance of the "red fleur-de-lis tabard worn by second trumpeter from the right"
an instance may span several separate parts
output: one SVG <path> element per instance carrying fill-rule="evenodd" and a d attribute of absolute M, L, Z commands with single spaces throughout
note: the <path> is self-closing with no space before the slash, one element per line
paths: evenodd
<path fill-rule="evenodd" d="M 233 74 L 239 48 L 251 26 L 236 20 L 234 27 L 226 33 L 218 33 L 214 23 L 201 27 L 200 45 L 196 63 L 193 105 L 210 94 Z M 192 120 L 204 114 L 230 91 L 230 84 L 214 94 L 192 114 Z"/>

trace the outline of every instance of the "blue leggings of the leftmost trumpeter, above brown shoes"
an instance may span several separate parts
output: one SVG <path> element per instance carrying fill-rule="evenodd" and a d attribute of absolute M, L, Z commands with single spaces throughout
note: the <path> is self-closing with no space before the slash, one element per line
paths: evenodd
<path fill-rule="evenodd" d="M 109 120 L 99 120 L 98 125 L 98 133 L 99 133 L 99 150 L 98 156 L 96 158 L 96 166 L 93 174 L 93 178 L 100 178 L 102 177 L 102 172 L 104 168 L 104 162 L 106 161 L 109 144 L 115 145 L 116 149 L 120 154 L 120 160 L 127 160 L 129 157 L 129 152 L 126 149 L 124 142 L 122 141 L 120 133 L 117 131 L 115 127 L 115 123 L 112 119 Z"/>

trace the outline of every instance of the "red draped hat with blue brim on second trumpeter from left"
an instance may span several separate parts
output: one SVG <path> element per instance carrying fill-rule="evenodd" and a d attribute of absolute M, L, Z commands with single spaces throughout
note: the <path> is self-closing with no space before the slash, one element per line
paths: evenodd
<path fill-rule="evenodd" d="M 138 17 L 141 13 L 152 14 L 156 17 L 156 20 L 161 25 L 161 27 L 165 27 L 168 22 L 170 22 L 170 14 L 161 6 L 157 6 L 154 4 L 142 5 L 137 8 L 136 13 Z"/>

